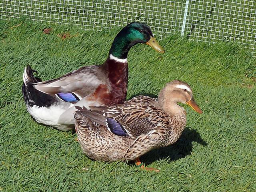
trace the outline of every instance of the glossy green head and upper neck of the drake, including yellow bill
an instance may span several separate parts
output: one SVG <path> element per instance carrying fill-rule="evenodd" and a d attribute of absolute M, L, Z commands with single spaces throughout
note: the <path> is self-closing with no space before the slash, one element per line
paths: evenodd
<path fill-rule="evenodd" d="M 156 51 L 164 53 L 164 49 L 153 38 L 152 31 L 146 24 L 132 22 L 116 35 L 109 54 L 121 59 L 127 58 L 130 48 L 138 43 L 146 43 Z"/>

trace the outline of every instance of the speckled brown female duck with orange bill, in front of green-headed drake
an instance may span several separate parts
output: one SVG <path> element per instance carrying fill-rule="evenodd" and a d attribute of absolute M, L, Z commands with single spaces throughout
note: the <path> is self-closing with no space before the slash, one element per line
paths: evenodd
<path fill-rule="evenodd" d="M 202 113 L 190 86 L 179 80 L 166 84 L 158 99 L 136 96 L 114 106 L 89 106 L 90 110 L 76 107 L 78 141 L 94 160 L 136 160 L 140 166 L 140 156 L 173 144 L 182 134 L 186 112 L 178 102 Z"/>

